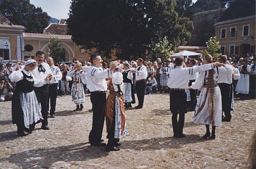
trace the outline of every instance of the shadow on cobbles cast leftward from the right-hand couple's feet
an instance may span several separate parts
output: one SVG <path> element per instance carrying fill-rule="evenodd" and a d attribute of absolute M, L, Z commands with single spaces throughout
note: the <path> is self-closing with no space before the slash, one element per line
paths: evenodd
<path fill-rule="evenodd" d="M 158 150 L 158 149 L 180 149 L 183 145 L 207 141 L 198 135 L 187 135 L 184 138 L 164 137 L 151 138 L 134 141 L 124 141 L 121 149 L 134 150 Z"/>

